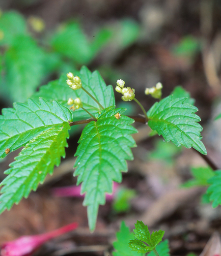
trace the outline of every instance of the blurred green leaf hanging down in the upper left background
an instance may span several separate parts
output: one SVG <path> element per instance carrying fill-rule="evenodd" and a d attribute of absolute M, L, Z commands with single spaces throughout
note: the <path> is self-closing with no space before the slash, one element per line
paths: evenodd
<path fill-rule="evenodd" d="M 44 54 L 27 35 L 14 38 L 5 53 L 5 92 L 16 102 L 26 101 L 44 75 Z"/>

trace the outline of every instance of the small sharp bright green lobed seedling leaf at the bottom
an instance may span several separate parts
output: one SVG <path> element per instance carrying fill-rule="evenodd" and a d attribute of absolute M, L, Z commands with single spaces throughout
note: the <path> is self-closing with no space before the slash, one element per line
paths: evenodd
<path fill-rule="evenodd" d="M 130 240 L 129 247 L 138 253 L 151 252 L 162 241 L 165 231 L 159 230 L 150 234 L 147 225 L 137 221 L 134 229 L 135 240 Z M 147 244 L 147 245 L 146 245 Z"/>

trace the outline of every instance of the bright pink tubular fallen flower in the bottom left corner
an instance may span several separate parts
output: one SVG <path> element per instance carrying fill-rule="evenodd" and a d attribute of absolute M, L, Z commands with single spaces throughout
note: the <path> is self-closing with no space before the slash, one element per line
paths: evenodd
<path fill-rule="evenodd" d="M 16 240 L 4 243 L 1 246 L 0 256 L 30 256 L 46 241 L 67 233 L 77 227 L 77 223 L 72 223 L 48 233 L 32 236 L 21 236 Z"/>

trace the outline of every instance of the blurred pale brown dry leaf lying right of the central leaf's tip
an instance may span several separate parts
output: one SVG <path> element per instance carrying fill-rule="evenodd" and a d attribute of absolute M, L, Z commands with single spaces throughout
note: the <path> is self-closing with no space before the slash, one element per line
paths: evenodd
<path fill-rule="evenodd" d="M 143 223 L 153 226 L 163 218 L 172 215 L 177 208 L 185 205 L 202 192 L 201 188 L 173 189 L 160 196 L 140 217 Z"/>

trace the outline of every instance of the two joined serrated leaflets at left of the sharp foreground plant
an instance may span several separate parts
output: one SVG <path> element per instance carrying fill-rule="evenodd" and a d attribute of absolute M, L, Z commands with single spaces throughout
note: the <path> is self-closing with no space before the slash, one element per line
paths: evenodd
<path fill-rule="evenodd" d="M 57 102 L 49 103 L 29 99 L 28 103 L 14 104 L 14 109 L 4 109 L 0 116 L 1 157 L 21 146 L 21 151 L 5 174 L 1 182 L 0 213 L 10 209 L 22 197 L 28 197 L 43 183 L 54 166 L 65 157 L 64 147 L 69 137 L 69 122 L 72 115 L 68 108 Z M 5 150 L 6 148 L 6 150 Z"/>

